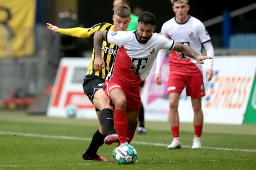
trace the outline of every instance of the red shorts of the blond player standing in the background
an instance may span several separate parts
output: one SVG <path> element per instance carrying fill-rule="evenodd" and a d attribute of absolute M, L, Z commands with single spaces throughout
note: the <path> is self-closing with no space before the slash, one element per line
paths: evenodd
<path fill-rule="evenodd" d="M 182 93 L 186 87 L 187 96 L 193 98 L 201 98 L 205 96 L 204 81 L 201 75 L 181 75 L 169 74 L 168 79 L 168 95 L 169 93 Z"/>

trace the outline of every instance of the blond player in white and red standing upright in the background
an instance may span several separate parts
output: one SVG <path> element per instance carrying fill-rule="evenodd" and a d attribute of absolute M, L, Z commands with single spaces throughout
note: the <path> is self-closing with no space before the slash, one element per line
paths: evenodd
<path fill-rule="evenodd" d="M 198 54 L 202 54 L 202 45 L 207 56 L 214 57 L 214 48 L 211 38 L 204 24 L 193 16 L 188 15 L 190 9 L 189 0 L 171 0 L 175 17 L 163 24 L 161 33 L 166 38 L 173 39 L 184 45 L 190 46 Z M 155 82 L 161 85 L 161 65 L 166 56 L 166 50 L 160 50 L 157 57 L 157 70 Z M 181 148 L 179 138 L 179 97 L 186 86 L 187 96 L 191 96 L 191 103 L 194 110 L 194 133 L 193 149 L 201 148 L 202 124 L 204 115 L 201 108 L 201 98 L 205 95 L 202 75 L 202 65 L 191 60 L 180 52 L 172 50 L 170 53 L 168 96 L 169 96 L 169 121 L 173 141 L 168 149 Z M 208 60 L 206 76 L 208 81 L 213 77 L 213 60 Z"/>

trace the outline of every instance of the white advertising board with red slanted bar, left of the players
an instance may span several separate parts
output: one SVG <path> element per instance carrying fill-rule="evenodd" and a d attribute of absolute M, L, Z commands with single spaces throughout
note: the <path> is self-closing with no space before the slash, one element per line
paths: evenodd
<path fill-rule="evenodd" d="M 66 108 L 77 108 L 77 118 L 97 118 L 95 107 L 84 94 L 83 78 L 90 59 L 62 58 L 56 75 L 54 89 L 47 110 L 51 117 L 67 117 Z"/>

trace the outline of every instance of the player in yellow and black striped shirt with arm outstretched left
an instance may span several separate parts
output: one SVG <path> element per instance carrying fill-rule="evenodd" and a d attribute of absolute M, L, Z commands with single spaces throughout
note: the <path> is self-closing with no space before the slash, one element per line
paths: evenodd
<path fill-rule="evenodd" d="M 72 37 L 79 38 L 93 38 L 94 33 L 98 30 L 110 30 L 110 31 L 126 31 L 130 22 L 131 10 L 129 6 L 120 5 L 116 8 L 113 15 L 113 24 L 99 23 L 91 28 L 58 28 L 52 24 L 47 23 L 47 28 L 55 33 L 70 35 Z M 91 56 L 90 66 L 87 74 L 84 77 L 83 89 L 84 93 L 88 96 L 91 102 L 94 104 L 97 111 L 97 117 L 101 122 L 100 128 L 94 133 L 90 146 L 83 153 L 84 160 L 93 161 L 108 161 L 106 158 L 97 154 L 98 148 L 104 143 L 106 135 L 116 133 L 113 129 L 113 114 L 112 107 L 109 106 L 109 99 L 103 91 L 103 84 L 105 77 L 113 65 L 118 46 L 113 44 L 107 44 L 105 41 L 102 45 L 102 58 L 105 62 L 105 67 L 101 72 L 95 71 L 93 68 L 94 63 L 94 49 Z M 101 110 L 101 112 L 100 112 Z M 116 141 L 115 141 L 116 142 Z"/>

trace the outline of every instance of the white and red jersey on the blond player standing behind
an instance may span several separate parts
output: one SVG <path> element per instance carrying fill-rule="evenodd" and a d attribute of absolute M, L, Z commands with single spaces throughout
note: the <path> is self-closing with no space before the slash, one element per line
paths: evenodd
<path fill-rule="evenodd" d="M 190 16 L 184 24 L 176 22 L 175 17 L 166 21 L 161 29 L 162 34 L 169 39 L 188 45 L 199 55 L 202 55 L 202 44 L 211 41 L 204 24 Z M 183 75 L 202 74 L 202 64 L 175 50 L 170 54 L 170 72 Z"/>

